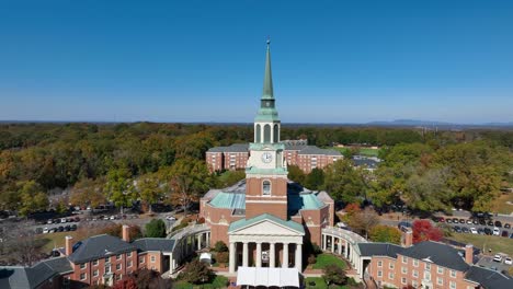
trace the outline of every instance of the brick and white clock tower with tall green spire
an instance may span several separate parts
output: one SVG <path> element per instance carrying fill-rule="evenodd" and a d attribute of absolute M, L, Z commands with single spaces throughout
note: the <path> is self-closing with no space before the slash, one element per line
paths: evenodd
<path fill-rule="evenodd" d="M 287 219 L 287 166 L 280 142 L 281 122 L 273 95 L 271 42 L 267 39 L 260 109 L 254 118 L 254 142 L 246 167 L 246 218 L 271 213 Z"/>

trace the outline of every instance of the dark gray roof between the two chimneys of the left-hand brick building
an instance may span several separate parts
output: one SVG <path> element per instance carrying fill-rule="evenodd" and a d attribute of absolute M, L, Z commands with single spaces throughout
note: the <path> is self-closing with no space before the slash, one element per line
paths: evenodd
<path fill-rule="evenodd" d="M 78 248 L 69 256 L 69 259 L 76 264 L 80 264 L 135 250 L 137 248 L 133 244 L 119 238 L 101 234 L 83 240 Z"/>

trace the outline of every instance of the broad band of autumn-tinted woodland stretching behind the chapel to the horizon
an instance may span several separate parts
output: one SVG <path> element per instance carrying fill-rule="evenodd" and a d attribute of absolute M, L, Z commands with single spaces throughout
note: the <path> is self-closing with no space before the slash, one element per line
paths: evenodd
<path fill-rule="evenodd" d="M 208 187 L 229 185 L 243 177 L 240 172 L 228 176 L 209 174 L 204 158 L 212 147 L 252 141 L 252 129 L 250 125 L 152 123 L 0 125 L 0 209 L 29 215 L 48 206 L 57 207 L 59 204 L 48 200 L 55 188 L 69 189 L 71 203 L 77 205 L 110 200 L 123 208 L 140 200 L 150 209 L 150 204 L 167 199 L 186 207 Z M 378 204 L 388 204 L 394 198 L 422 204 L 423 199 L 414 200 L 409 192 L 428 189 L 423 195 L 433 195 L 430 192 L 436 188 L 438 194 L 449 189 L 452 200 L 474 206 L 471 196 L 477 192 L 469 190 L 468 185 L 477 181 L 465 178 L 465 174 L 488 175 L 478 180 L 492 180 L 489 186 L 495 188 L 497 180 L 504 178 L 508 164 L 502 161 L 511 157 L 512 136 L 511 131 L 495 130 L 426 132 L 413 128 L 285 126 L 281 137 L 306 138 L 310 144 L 320 147 L 367 143 L 388 148 L 381 155 L 384 165 L 375 176 L 353 170 L 347 163 L 298 176 L 305 178 L 299 181 L 308 187 L 324 187 L 335 199 L 351 203 L 363 195 L 372 196 Z M 487 143 L 480 144 L 483 150 L 488 143 L 492 147 L 488 152 L 470 153 L 479 141 Z M 460 161 L 444 162 L 452 155 L 451 146 L 469 147 L 477 163 L 467 166 Z M 498 150 L 490 151 L 491 148 Z M 459 157 L 452 158 L 454 161 Z M 489 164 L 487 170 L 479 160 Z M 460 165 L 456 166 L 457 163 Z M 465 171 L 468 167 L 474 169 Z M 290 171 L 294 174 L 294 167 Z M 453 176 L 459 176 L 458 183 L 449 182 Z M 486 190 L 483 185 L 474 184 L 479 192 Z M 478 207 L 486 199 L 488 196 L 478 200 Z"/>

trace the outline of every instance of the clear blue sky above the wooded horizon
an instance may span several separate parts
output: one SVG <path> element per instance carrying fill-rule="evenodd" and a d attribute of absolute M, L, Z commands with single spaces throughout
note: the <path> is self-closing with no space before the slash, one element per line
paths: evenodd
<path fill-rule="evenodd" d="M 513 1 L 0 1 L 0 119 L 513 122 Z"/>

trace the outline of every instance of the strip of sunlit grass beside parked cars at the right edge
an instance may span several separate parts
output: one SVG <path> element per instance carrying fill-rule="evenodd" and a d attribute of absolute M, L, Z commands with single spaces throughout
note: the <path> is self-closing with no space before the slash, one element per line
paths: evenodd
<path fill-rule="evenodd" d="M 513 239 L 510 238 L 498 235 L 453 233 L 453 235 L 448 239 L 466 244 L 472 244 L 474 246 L 483 251 L 486 250 L 486 253 L 488 253 L 488 248 L 491 248 L 492 254 L 502 252 L 510 256 L 513 255 Z"/>

